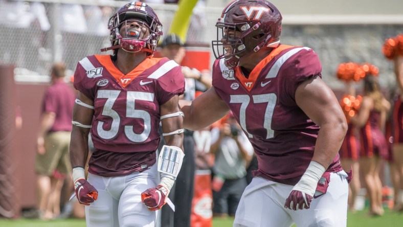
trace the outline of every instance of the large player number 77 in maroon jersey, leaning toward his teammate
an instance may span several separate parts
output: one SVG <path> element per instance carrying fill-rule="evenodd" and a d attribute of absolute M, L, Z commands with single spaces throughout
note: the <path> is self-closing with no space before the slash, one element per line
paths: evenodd
<path fill-rule="evenodd" d="M 280 44 L 281 19 L 263 0 L 222 11 L 213 87 L 180 101 L 184 125 L 197 130 L 231 110 L 254 146 L 259 169 L 234 226 L 346 226 L 348 174 L 338 154 L 346 118 L 317 54 Z"/>

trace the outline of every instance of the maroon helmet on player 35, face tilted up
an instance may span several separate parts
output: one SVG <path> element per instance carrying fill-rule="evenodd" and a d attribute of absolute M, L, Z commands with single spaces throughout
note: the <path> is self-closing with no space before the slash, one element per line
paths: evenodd
<path fill-rule="evenodd" d="M 128 29 L 127 24 L 137 21 L 141 28 Z M 119 29 L 124 26 L 125 34 L 120 34 Z M 147 28 L 149 35 L 143 37 L 143 28 Z M 146 51 L 153 55 L 158 40 L 163 34 L 162 24 L 154 10 L 142 2 L 132 2 L 124 5 L 117 13 L 110 17 L 108 23 L 110 30 L 110 46 L 101 51 L 122 48 L 128 52 Z M 143 37 L 143 38 L 142 38 Z"/>

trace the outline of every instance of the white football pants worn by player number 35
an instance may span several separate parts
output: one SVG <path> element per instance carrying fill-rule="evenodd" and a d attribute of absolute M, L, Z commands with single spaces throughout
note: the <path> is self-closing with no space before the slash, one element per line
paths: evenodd
<path fill-rule="evenodd" d="M 150 211 L 141 193 L 156 186 L 156 164 L 144 172 L 102 177 L 88 173 L 88 182 L 98 190 L 98 199 L 85 206 L 87 227 L 151 227 L 158 211 Z"/>

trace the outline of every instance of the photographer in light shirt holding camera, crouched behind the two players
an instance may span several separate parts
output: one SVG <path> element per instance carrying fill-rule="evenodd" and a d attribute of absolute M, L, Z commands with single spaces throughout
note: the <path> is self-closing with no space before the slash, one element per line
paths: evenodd
<path fill-rule="evenodd" d="M 243 190 L 247 187 L 247 167 L 253 147 L 232 112 L 220 127 L 211 130 L 210 153 L 215 155 L 213 166 L 213 216 L 235 216 Z"/>

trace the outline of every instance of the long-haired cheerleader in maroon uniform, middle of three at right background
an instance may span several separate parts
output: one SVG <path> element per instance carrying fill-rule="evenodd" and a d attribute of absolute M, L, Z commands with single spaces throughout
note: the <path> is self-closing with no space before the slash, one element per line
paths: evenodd
<path fill-rule="evenodd" d="M 368 192 L 369 214 L 383 215 L 382 183 L 379 178 L 382 158 L 387 158 L 388 147 L 383 133 L 390 103 L 380 92 L 377 77 L 367 74 L 364 78 L 364 96 L 357 115 L 351 122 L 360 130 L 360 170 Z"/>

